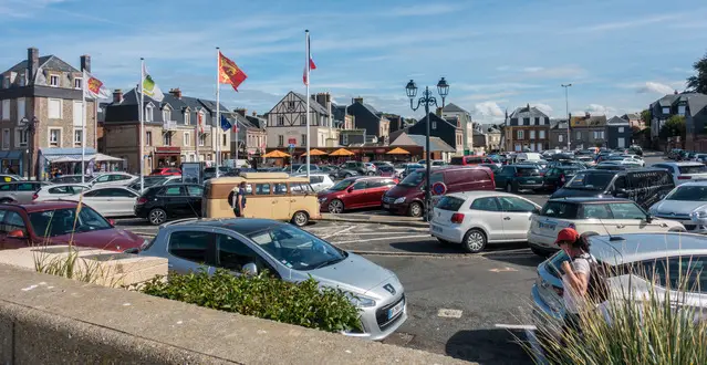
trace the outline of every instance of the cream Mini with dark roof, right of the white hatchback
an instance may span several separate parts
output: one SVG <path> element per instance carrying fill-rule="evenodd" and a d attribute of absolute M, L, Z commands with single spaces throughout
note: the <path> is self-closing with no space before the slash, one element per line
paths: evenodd
<path fill-rule="evenodd" d="M 554 243 L 563 228 L 574 228 L 580 234 L 623 234 L 649 232 L 684 232 L 674 220 L 655 218 L 635 201 L 617 198 L 550 199 L 533 215 L 528 230 L 528 244 L 540 255 L 560 248 Z"/>

